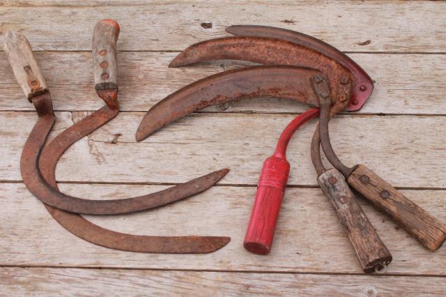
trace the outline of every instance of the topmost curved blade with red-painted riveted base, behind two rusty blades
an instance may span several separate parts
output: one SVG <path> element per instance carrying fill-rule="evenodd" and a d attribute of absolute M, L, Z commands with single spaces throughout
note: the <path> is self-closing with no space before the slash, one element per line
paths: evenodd
<path fill-rule="evenodd" d="M 278 38 L 297 43 L 305 47 L 325 54 L 344 65 L 353 74 L 353 92 L 350 105 L 346 107 L 348 112 L 356 112 L 362 108 L 374 90 L 374 82 L 369 75 L 355 61 L 346 54 L 332 47 L 318 38 L 304 33 L 277 28 L 273 26 L 235 25 L 226 28 L 226 32 L 234 36 L 258 36 Z"/>

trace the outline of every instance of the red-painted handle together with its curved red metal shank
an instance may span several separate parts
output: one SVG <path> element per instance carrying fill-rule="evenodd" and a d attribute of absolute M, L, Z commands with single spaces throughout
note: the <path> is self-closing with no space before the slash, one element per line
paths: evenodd
<path fill-rule="evenodd" d="M 286 125 L 272 156 L 263 162 L 251 218 L 243 240 L 243 246 L 249 252 L 254 254 L 270 252 L 290 172 L 290 164 L 286 160 L 286 148 L 296 130 L 318 114 L 319 109 L 312 108 L 296 116 Z"/>

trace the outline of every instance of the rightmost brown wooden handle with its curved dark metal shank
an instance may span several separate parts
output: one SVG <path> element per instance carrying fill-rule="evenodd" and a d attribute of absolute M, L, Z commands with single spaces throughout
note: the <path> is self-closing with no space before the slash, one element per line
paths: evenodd
<path fill-rule="evenodd" d="M 339 112 L 339 108 L 331 105 L 329 96 L 319 96 L 321 114 L 320 124 L 314 132 L 312 153 L 319 150 L 322 144 L 323 151 L 330 163 L 341 172 L 331 176 L 332 186 L 336 186 L 340 177 L 344 177 L 348 185 L 360 192 L 372 204 L 385 211 L 398 224 L 408 231 L 424 248 L 434 251 L 440 248 L 446 240 L 446 225 L 426 213 L 420 206 L 413 203 L 392 187 L 389 183 L 377 176 L 364 165 L 346 167 L 334 153 L 330 143 L 328 122 Z M 330 175 L 330 174 L 328 174 Z M 328 182 L 330 183 L 330 178 Z M 335 181 L 336 180 L 336 181 Z M 330 186 L 330 185 L 328 185 Z M 348 197 L 348 196 L 346 196 Z M 346 198 L 349 200 L 349 198 Z"/>

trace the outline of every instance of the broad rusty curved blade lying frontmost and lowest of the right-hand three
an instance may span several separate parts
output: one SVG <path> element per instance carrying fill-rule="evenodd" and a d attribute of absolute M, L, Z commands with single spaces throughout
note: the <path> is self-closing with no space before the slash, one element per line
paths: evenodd
<path fill-rule="evenodd" d="M 318 106 L 311 78 L 318 70 L 295 66 L 254 66 L 200 79 L 167 96 L 145 114 L 136 139 L 204 107 L 256 97 L 286 98 Z"/>

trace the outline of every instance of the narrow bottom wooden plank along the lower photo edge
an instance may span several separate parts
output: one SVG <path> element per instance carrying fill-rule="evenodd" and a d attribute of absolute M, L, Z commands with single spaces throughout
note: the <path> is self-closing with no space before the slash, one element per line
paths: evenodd
<path fill-rule="evenodd" d="M 439 277 L 1 268 L 16 296 L 444 296 Z"/>

